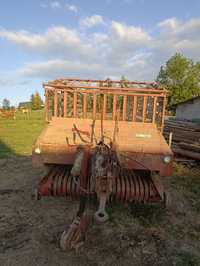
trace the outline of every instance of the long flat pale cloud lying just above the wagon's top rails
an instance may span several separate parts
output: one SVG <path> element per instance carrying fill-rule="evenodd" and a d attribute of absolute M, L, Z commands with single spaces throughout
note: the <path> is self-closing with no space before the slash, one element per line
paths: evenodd
<path fill-rule="evenodd" d="M 129 78 L 143 79 L 144 72 L 149 75 L 147 70 L 144 70 L 145 63 L 142 60 L 136 60 L 131 65 L 124 63 L 122 68 L 117 66 L 105 65 L 101 61 L 94 63 L 85 63 L 80 61 L 70 60 L 48 60 L 25 65 L 18 70 L 18 75 L 24 78 L 41 78 L 43 80 L 54 79 L 58 77 L 82 77 L 82 78 L 106 78 L 116 77 L 120 79 L 121 75 L 126 75 Z M 134 77 L 133 77 L 134 72 Z"/>

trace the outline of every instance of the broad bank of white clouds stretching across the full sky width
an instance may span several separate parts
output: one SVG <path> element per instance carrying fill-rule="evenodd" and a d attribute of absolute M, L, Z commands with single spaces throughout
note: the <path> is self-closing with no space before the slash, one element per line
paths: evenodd
<path fill-rule="evenodd" d="M 97 23 L 95 19 L 86 21 L 85 27 Z M 103 18 L 97 21 L 105 23 Z M 160 65 L 175 52 L 200 58 L 200 19 L 183 22 L 169 18 L 157 26 L 153 33 L 118 21 L 93 33 L 67 27 L 50 27 L 43 33 L 0 29 L 0 38 L 42 57 L 19 70 L 19 75 L 31 78 L 126 75 L 129 79 L 153 80 Z"/>

